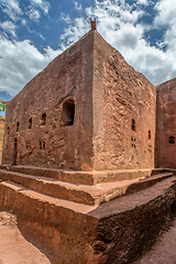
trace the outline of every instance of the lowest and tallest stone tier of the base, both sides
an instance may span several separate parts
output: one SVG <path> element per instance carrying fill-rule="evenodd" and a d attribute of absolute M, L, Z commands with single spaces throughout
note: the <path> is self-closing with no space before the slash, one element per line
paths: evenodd
<path fill-rule="evenodd" d="M 53 264 L 133 263 L 168 227 L 175 201 L 176 176 L 99 207 L 0 183 L 0 210 L 18 215 L 21 232 Z"/>

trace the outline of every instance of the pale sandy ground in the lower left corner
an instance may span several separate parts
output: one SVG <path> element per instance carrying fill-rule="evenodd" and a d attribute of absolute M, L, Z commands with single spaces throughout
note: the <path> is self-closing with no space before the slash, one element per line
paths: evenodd
<path fill-rule="evenodd" d="M 18 229 L 15 216 L 0 212 L 0 264 L 51 264 Z"/>

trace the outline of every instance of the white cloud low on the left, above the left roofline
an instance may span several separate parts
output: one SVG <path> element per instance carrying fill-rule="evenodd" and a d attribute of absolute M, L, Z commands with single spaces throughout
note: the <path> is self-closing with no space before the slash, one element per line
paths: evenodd
<path fill-rule="evenodd" d="M 15 96 L 61 51 L 45 48 L 42 54 L 30 41 L 11 42 L 0 38 L 0 91 Z"/>

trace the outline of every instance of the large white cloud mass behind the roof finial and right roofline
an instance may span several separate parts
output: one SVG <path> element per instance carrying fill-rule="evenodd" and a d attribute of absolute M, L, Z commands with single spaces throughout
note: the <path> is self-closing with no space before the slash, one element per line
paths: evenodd
<path fill-rule="evenodd" d="M 97 18 L 97 29 L 102 37 L 114 46 L 138 72 L 143 73 L 154 85 L 165 81 L 176 76 L 176 6 L 175 0 L 161 0 L 155 9 L 157 16 L 154 28 L 161 24 L 167 24 L 168 30 L 165 33 L 164 42 L 158 47 L 151 46 L 144 38 L 148 25 L 139 23 L 139 19 L 145 15 L 142 9 L 151 0 L 139 0 L 133 6 L 124 0 L 105 0 L 95 1 L 94 8 L 87 8 L 86 19 L 67 19 L 68 26 L 62 35 L 62 41 L 66 40 L 68 44 L 76 42 L 84 35 L 89 25 L 89 18 Z M 174 10 L 174 11 L 173 11 Z M 167 44 L 167 50 L 163 51 L 162 45 Z M 65 45 L 66 47 L 67 45 Z"/>

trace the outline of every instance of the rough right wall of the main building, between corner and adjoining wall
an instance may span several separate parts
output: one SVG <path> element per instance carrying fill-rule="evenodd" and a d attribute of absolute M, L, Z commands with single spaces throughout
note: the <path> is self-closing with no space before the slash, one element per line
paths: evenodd
<path fill-rule="evenodd" d="M 96 34 L 96 38 L 94 166 L 96 169 L 153 168 L 155 87 L 100 35 Z"/>

